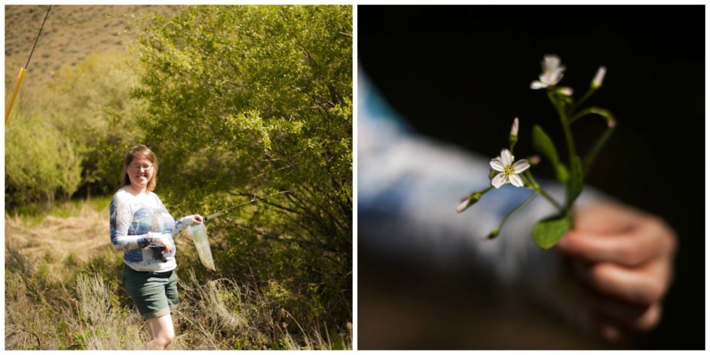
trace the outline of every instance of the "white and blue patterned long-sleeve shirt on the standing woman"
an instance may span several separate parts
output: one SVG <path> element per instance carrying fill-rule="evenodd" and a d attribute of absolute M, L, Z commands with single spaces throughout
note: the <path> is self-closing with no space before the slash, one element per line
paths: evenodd
<path fill-rule="evenodd" d="M 109 213 L 111 244 L 114 249 L 124 251 L 126 265 L 136 271 L 153 272 L 177 267 L 173 236 L 187 227 L 189 222 L 185 219 L 190 217 L 175 222 L 158 195 L 147 192 L 133 196 L 124 188 L 114 194 Z M 148 247 L 158 244 L 159 239 L 168 241 L 173 251 L 165 253 Z"/>

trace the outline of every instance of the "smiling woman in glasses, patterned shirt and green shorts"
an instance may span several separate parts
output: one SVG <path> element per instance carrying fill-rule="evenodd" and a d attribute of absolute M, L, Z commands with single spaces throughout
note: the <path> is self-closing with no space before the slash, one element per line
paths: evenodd
<path fill-rule="evenodd" d="M 111 244 L 124 251 L 121 273 L 126 291 L 148 322 L 153 340 L 148 349 L 165 349 L 175 338 L 170 307 L 177 305 L 173 236 L 187 226 L 201 224 L 198 214 L 175 222 L 153 193 L 158 158 L 148 147 L 134 146 L 126 154 L 122 185 L 109 207 Z"/>

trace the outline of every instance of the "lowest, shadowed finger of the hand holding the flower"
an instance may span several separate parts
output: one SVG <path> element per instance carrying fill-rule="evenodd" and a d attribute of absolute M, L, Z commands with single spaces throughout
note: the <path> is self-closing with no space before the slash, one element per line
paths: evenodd
<path fill-rule="evenodd" d="M 591 307 L 605 317 L 616 320 L 636 332 L 648 332 L 660 322 L 661 317 L 660 302 L 654 302 L 649 306 L 637 306 L 610 297 L 597 296 L 592 298 Z"/>

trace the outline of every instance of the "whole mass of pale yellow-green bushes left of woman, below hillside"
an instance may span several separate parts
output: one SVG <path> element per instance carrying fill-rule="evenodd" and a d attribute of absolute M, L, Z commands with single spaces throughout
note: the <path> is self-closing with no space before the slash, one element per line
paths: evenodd
<path fill-rule="evenodd" d="M 21 92 L 6 130 L 6 207 L 118 188 L 140 109 L 129 94 L 127 61 L 121 53 L 92 54 L 62 67 L 46 89 Z"/>

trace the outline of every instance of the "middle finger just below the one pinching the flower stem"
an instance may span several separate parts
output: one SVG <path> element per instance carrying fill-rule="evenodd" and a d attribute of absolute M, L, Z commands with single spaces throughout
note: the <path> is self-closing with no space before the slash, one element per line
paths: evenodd
<path fill-rule="evenodd" d="M 613 263 L 595 263 L 579 268 L 581 278 L 604 295 L 636 305 L 660 301 L 669 283 L 665 262 L 654 262 L 638 268 L 624 268 Z"/>

